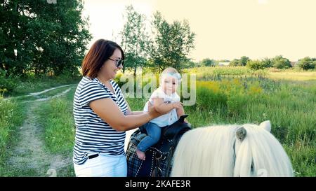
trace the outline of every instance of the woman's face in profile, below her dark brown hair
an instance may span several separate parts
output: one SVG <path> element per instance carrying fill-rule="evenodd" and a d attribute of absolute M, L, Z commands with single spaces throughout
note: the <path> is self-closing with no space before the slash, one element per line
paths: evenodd
<path fill-rule="evenodd" d="M 107 59 L 104 62 L 98 75 L 103 76 L 103 78 L 105 78 L 106 80 L 115 78 L 115 76 L 117 75 L 117 71 L 123 68 L 122 65 L 116 65 L 118 59 L 121 59 L 121 51 L 119 49 L 115 49 L 110 59 Z"/>

